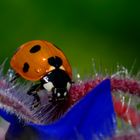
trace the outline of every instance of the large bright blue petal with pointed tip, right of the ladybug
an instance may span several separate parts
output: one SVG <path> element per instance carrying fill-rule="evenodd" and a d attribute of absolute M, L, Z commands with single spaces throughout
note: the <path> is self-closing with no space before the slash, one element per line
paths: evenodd
<path fill-rule="evenodd" d="M 39 140 L 92 140 L 111 137 L 115 132 L 116 119 L 110 91 L 110 80 L 106 79 L 60 120 L 46 126 L 32 125 Z"/>

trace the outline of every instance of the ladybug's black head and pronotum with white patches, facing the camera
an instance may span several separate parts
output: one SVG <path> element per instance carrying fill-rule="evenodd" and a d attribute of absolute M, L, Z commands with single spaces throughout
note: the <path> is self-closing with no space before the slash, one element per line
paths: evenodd
<path fill-rule="evenodd" d="M 52 93 L 52 102 L 64 101 L 68 97 L 71 79 L 64 70 L 54 69 L 42 78 L 42 84 L 47 91 Z"/>

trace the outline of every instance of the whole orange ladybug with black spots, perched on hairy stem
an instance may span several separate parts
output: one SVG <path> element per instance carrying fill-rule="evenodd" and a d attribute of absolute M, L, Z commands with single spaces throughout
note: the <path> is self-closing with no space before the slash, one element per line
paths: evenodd
<path fill-rule="evenodd" d="M 37 94 L 45 89 L 51 93 L 50 101 L 64 101 L 72 84 L 72 69 L 64 53 L 44 40 L 33 40 L 19 47 L 10 61 L 16 75 L 30 81 L 39 81 L 27 94 L 34 96 L 33 105 L 40 104 Z"/>

